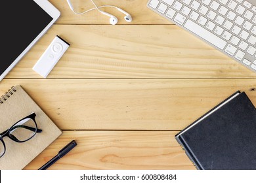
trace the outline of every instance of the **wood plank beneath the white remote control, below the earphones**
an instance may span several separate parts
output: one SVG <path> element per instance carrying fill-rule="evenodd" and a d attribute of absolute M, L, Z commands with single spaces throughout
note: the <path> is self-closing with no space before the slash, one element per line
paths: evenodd
<path fill-rule="evenodd" d="M 54 25 L 7 78 L 41 78 L 33 65 L 56 35 L 71 46 L 49 78 L 256 77 L 175 25 Z"/>

